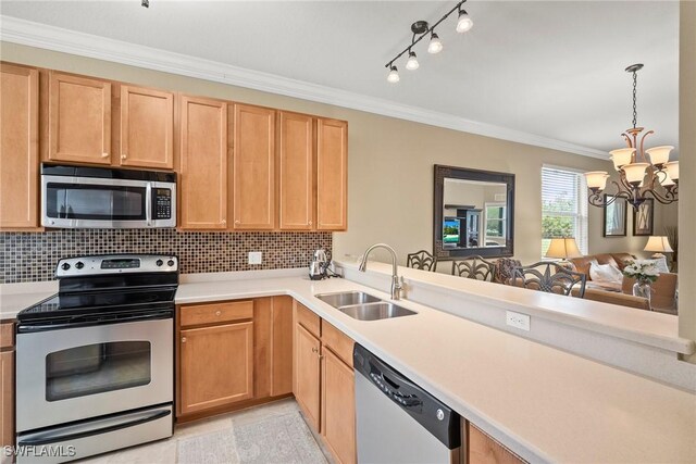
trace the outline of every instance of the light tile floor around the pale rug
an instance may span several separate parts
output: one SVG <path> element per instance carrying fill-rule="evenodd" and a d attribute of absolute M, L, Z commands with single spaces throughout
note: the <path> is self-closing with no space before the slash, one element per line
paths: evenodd
<path fill-rule="evenodd" d="M 79 461 L 82 464 L 115 464 L 115 463 L 128 463 L 128 464 L 156 464 L 156 463 L 178 463 L 178 448 L 182 440 L 187 440 L 192 437 L 200 437 L 203 435 L 213 435 L 223 430 L 229 431 L 232 438 L 232 430 L 234 427 L 240 427 L 256 422 L 269 419 L 274 416 L 282 416 L 288 413 L 299 411 L 299 406 L 294 399 L 285 399 L 275 401 L 273 403 L 263 404 L 260 406 L 253 406 L 248 410 L 236 411 L 219 416 L 214 416 L 208 419 L 196 421 L 189 424 L 176 426 L 174 428 L 174 436 L 166 439 L 154 441 L 152 443 L 145 443 L 138 447 L 128 448 L 121 451 L 113 451 L 111 453 L 101 454 L 94 457 L 87 457 Z M 311 427 L 310 427 L 310 430 Z M 312 430 L 314 435 L 314 431 Z M 331 453 L 323 446 L 322 440 L 314 435 L 316 447 L 321 450 L 326 461 L 330 464 L 334 464 L 334 460 L 331 457 Z M 214 454 L 214 451 L 212 451 Z M 222 453 L 221 453 L 222 454 Z M 208 460 L 207 463 L 208 464 Z M 202 464 L 202 460 L 201 460 Z M 311 463 L 308 463 L 311 464 Z"/>

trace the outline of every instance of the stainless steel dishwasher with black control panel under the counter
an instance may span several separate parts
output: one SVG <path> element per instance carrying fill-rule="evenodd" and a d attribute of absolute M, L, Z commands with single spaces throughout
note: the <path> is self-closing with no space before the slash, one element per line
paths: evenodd
<path fill-rule="evenodd" d="M 358 462 L 459 463 L 460 416 L 356 343 Z"/>

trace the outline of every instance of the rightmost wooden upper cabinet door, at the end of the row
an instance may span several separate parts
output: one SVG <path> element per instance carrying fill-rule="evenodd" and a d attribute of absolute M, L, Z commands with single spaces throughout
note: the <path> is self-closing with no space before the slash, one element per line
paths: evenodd
<path fill-rule="evenodd" d="M 316 121 L 316 229 L 348 224 L 348 123 Z"/>

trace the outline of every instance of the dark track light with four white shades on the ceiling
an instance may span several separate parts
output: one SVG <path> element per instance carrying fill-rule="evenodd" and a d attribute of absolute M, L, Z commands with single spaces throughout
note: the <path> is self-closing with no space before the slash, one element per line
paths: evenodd
<path fill-rule="evenodd" d="M 415 23 L 411 24 L 411 32 L 413 33 L 413 37 L 411 38 L 411 45 L 405 48 L 399 54 L 394 57 L 391 61 L 389 61 L 385 65 L 385 67 L 389 70 L 389 74 L 387 75 L 387 80 L 389 83 L 395 84 L 399 81 L 399 72 L 394 65 L 394 62 L 397 61 L 399 58 L 401 58 L 406 52 L 408 52 L 406 68 L 409 71 L 414 71 L 419 68 L 420 64 L 415 57 L 415 52 L 412 50 L 412 48 L 418 42 L 420 42 L 424 37 L 426 37 L 428 34 L 430 34 L 431 40 L 427 45 L 427 52 L 435 54 L 443 51 L 443 42 L 437 36 L 437 34 L 435 33 L 435 27 L 439 26 L 439 24 L 443 21 L 447 20 L 447 17 L 449 17 L 449 15 L 452 14 L 453 12 L 456 11 L 459 12 L 459 16 L 457 20 L 457 27 L 456 27 L 456 30 L 458 33 L 460 34 L 465 33 L 472 28 L 472 26 L 474 25 L 473 21 L 471 20 L 471 17 L 469 17 L 469 13 L 467 13 L 467 10 L 461 8 L 461 5 L 464 4 L 465 2 L 467 0 L 459 1 L 455 5 L 455 8 L 449 10 L 447 14 L 440 17 L 439 21 L 437 21 L 437 23 L 433 24 L 432 26 L 427 23 L 427 21 L 417 21 Z"/>

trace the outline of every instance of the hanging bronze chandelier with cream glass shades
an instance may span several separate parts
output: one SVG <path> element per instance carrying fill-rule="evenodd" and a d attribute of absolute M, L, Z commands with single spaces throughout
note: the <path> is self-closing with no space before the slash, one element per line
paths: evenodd
<path fill-rule="evenodd" d="M 606 171 L 585 173 L 589 191 L 587 201 L 594 206 L 606 206 L 619 198 L 625 199 L 634 209 L 637 209 L 648 196 L 662 204 L 679 200 L 679 161 L 669 161 L 670 151 L 674 147 L 662 146 L 644 150 L 645 139 L 654 134 L 654 130 L 641 135 L 645 128 L 637 127 L 636 87 L 641 68 L 643 64 L 632 64 L 625 70 L 633 74 L 633 127 L 621 134 L 627 147 L 609 152 L 613 167 L 619 173 L 619 180 L 611 180 L 616 192 L 602 195 L 610 177 Z"/>

